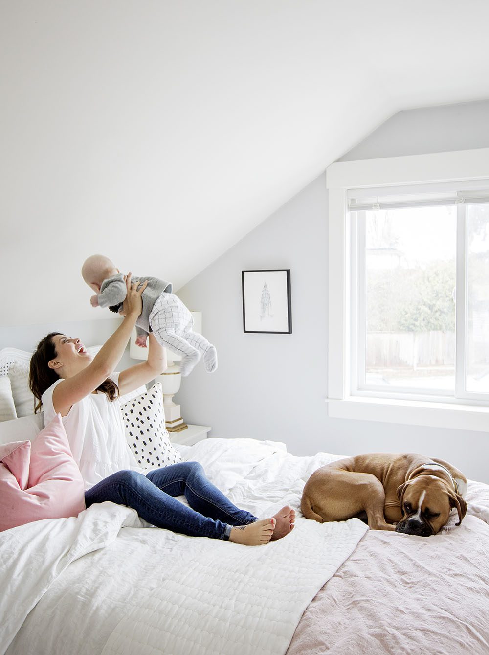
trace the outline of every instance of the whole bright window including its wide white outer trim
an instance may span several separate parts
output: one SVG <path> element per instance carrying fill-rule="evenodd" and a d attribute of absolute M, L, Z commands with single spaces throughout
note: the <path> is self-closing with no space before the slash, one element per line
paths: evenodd
<path fill-rule="evenodd" d="M 327 185 L 330 415 L 488 430 L 489 150 L 341 162 Z"/>

